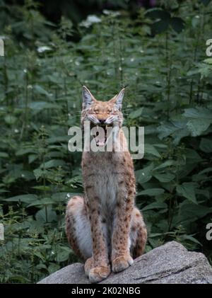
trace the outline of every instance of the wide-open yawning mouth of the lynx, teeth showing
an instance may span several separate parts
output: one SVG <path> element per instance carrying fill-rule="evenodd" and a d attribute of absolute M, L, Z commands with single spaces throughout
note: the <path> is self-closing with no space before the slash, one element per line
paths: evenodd
<path fill-rule="evenodd" d="M 110 135 L 110 130 L 112 130 L 113 125 L 99 124 L 95 125 L 90 123 L 90 130 L 92 130 L 93 138 L 95 139 L 95 144 L 98 147 L 104 147 L 107 143 L 107 139 Z M 110 129 L 109 129 L 110 127 Z"/>

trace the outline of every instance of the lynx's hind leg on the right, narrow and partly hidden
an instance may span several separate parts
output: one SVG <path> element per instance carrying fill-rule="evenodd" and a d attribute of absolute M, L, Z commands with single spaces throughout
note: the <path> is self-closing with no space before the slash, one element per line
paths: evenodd
<path fill-rule="evenodd" d="M 138 258 L 144 252 L 147 240 L 147 231 L 146 225 L 143 222 L 143 216 L 136 207 L 134 207 L 131 218 L 129 238 L 131 256 L 133 256 L 133 258 Z"/>

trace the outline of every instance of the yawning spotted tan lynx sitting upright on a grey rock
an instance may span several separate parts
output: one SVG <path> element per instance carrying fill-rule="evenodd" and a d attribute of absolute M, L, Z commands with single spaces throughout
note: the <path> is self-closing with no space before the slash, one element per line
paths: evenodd
<path fill-rule="evenodd" d="M 147 239 L 141 212 L 134 206 L 134 165 L 122 131 L 124 88 L 110 101 L 97 101 L 83 86 L 81 125 L 117 128 L 114 143 L 124 150 L 83 151 L 82 172 L 85 196 L 74 196 L 66 207 L 66 235 L 73 251 L 86 261 L 90 282 L 100 282 L 118 273 L 141 256 Z M 95 137 L 104 147 L 106 137 Z"/>

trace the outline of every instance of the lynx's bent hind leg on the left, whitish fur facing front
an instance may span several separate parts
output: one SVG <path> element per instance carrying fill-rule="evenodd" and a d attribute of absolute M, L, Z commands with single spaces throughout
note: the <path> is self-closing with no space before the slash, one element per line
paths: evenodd
<path fill-rule="evenodd" d="M 92 256 L 92 237 L 85 200 L 78 195 L 71 197 L 66 207 L 66 236 L 78 257 L 87 260 Z"/>

